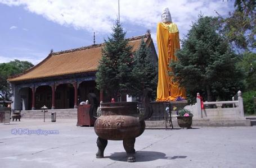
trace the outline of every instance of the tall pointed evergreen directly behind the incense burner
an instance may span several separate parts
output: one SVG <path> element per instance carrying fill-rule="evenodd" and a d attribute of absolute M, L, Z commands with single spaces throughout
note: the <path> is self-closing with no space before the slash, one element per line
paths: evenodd
<path fill-rule="evenodd" d="M 112 97 L 122 93 L 129 94 L 131 91 L 134 56 L 125 34 L 116 21 L 111 37 L 105 40 L 96 73 L 97 88 Z"/>

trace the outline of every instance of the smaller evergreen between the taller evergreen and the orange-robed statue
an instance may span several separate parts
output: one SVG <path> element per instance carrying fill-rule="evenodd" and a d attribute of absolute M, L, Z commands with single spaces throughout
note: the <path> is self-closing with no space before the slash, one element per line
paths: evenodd
<path fill-rule="evenodd" d="M 140 49 L 134 54 L 134 68 L 132 96 L 140 97 L 143 90 L 147 87 L 152 88 L 152 96 L 156 96 L 156 87 L 158 80 L 157 65 L 154 64 L 147 44 L 141 39 Z"/>

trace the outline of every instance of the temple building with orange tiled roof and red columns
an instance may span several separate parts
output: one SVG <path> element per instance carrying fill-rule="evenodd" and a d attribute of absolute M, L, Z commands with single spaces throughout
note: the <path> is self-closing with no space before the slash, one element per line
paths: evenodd
<path fill-rule="evenodd" d="M 155 63 L 158 57 L 150 34 L 129 38 L 133 52 L 140 48 L 144 37 Z M 110 98 L 96 88 L 95 74 L 104 44 L 51 52 L 42 62 L 19 76 L 10 77 L 12 110 L 34 110 L 46 105 L 51 109 L 76 108 L 95 93 L 98 100 Z"/>

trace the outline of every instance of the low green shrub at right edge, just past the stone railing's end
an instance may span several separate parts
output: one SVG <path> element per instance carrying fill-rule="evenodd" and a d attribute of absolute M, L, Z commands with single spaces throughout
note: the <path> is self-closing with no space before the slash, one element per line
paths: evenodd
<path fill-rule="evenodd" d="M 254 114 L 254 108 L 256 108 L 256 105 L 254 105 L 253 97 L 256 97 L 256 91 L 248 91 L 244 92 L 242 94 L 242 100 L 244 101 L 244 110 L 246 114 Z"/>

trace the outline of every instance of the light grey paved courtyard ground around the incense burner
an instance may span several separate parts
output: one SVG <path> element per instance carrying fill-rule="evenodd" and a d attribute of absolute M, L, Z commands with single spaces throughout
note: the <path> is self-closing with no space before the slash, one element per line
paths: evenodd
<path fill-rule="evenodd" d="M 128 163 L 122 141 L 109 141 L 105 158 L 96 158 L 93 127 L 76 123 L 0 123 L 0 167 L 256 167 L 256 126 L 146 129 L 136 138 L 137 162 Z M 32 133 L 38 129 L 59 134 Z"/>

